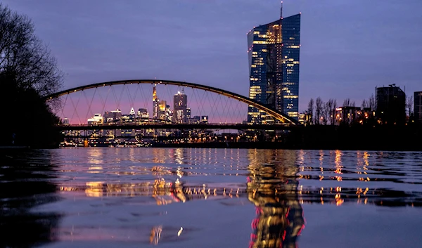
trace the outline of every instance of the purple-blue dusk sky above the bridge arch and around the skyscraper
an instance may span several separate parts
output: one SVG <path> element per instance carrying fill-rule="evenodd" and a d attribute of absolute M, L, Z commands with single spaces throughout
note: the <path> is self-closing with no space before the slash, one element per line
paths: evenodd
<path fill-rule="evenodd" d="M 279 18 L 279 0 L 3 0 L 28 15 L 65 72 L 65 89 L 172 79 L 248 96 L 246 33 Z M 395 83 L 422 91 L 421 0 L 285 0 L 302 12 L 300 111 Z"/>

